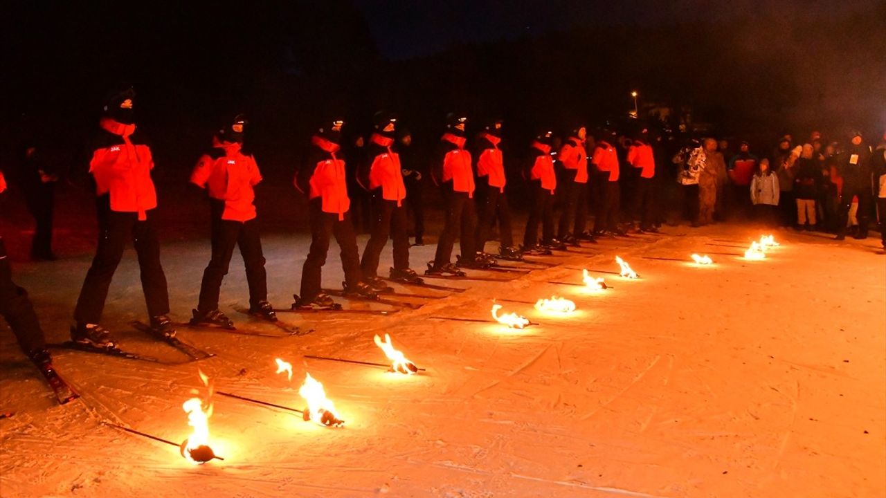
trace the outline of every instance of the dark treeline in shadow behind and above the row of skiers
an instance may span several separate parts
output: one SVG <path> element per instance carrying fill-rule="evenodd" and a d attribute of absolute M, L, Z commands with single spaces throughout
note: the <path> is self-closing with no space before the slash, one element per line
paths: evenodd
<path fill-rule="evenodd" d="M 75 157 L 102 97 L 120 82 L 136 86 L 158 162 L 183 168 L 219 116 L 235 110 L 250 115 L 247 140 L 277 168 L 297 162 L 316 122 L 333 113 L 364 131 L 372 113 L 391 109 L 422 148 L 457 108 L 503 117 L 506 136 L 521 144 L 539 126 L 623 121 L 633 89 L 641 109 L 691 108 L 723 136 L 818 128 L 842 138 L 849 128 L 886 126 L 886 2 L 864 12 L 835 6 L 830 15 L 750 2 L 739 18 L 714 13 L 711 21 L 699 12 L 683 22 L 455 44 L 392 61 L 349 0 L 20 2 L 2 21 L 3 151 L 36 134 Z"/>

